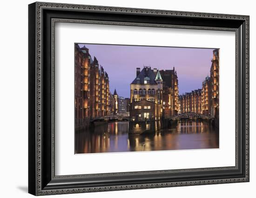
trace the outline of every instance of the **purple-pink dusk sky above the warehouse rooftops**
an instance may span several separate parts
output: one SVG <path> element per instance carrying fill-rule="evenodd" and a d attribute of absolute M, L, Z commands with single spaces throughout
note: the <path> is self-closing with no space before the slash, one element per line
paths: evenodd
<path fill-rule="evenodd" d="M 175 67 L 179 94 L 202 88 L 202 81 L 210 74 L 214 48 L 186 48 L 161 46 L 123 46 L 79 44 L 86 46 L 108 73 L 110 92 L 116 89 L 122 97 L 130 97 L 130 83 L 136 78 L 136 68 L 169 70 Z"/>

